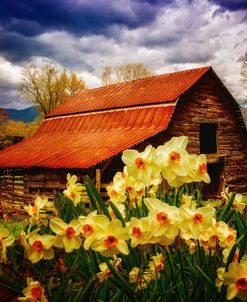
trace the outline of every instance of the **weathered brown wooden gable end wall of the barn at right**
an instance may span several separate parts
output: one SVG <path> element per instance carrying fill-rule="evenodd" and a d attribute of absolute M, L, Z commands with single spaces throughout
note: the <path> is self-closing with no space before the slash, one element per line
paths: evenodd
<path fill-rule="evenodd" d="M 217 153 L 207 154 L 209 169 L 211 164 L 221 170 L 211 172 L 212 181 L 219 182 L 213 190 L 215 196 L 219 196 L 223 185 L 247 193 L 247 134 L 241 111 L 219 79 L 210 73 L 179 98 L 167 130 L 133 148 L 142 151 L 149 144 L 157 147 L 173 136 L 186 135 L 189 153 L 200 154 L 201 123 L 217 124 Z M 122 167 L 121 155 L 114 157 L 104 172 L 104 179 L 109 180 Z"/>

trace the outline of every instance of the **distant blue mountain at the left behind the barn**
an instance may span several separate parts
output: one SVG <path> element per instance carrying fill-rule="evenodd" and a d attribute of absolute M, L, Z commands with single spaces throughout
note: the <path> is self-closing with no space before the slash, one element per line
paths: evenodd
<path fill-rule="evenodd" d="M 33 122 L 39 115 L 36 106 L 28 107 L 26 109 L 4 109 L 8 115 L 9 120 L 21 121 L 24 123 Z"/>

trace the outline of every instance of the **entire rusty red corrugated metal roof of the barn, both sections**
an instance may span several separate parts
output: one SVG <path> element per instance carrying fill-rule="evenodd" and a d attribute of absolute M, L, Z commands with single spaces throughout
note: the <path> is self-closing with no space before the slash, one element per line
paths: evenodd
<path fill-rule="evenodd" d="M 54 109 L 0 167 L 89 168 L 167 128 L 176 99 L 211 67 L 104 86 Z"/>

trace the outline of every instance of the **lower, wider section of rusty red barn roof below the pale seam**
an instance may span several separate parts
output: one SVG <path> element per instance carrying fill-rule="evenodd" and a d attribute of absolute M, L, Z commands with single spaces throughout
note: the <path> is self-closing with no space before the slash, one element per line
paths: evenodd
<path fill-rule="evenodd" d="M 162 105 L 44 120 L 34 137 L 0 152 L 0 167 L 89 168 L 166 129 L 174 108 Z"/>

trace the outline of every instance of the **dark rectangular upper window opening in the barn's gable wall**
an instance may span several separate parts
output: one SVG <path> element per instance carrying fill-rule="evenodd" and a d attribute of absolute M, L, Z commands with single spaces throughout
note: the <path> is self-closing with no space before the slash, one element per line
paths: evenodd
<path fill-rule="evenodd" d="M 217 153 L 217 124 L 200 124 L 200 153 Z"/>

